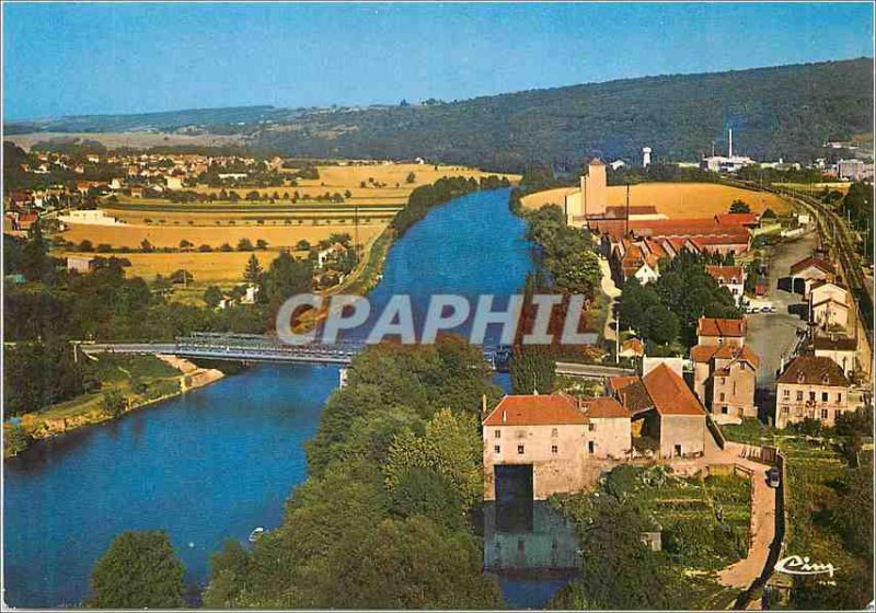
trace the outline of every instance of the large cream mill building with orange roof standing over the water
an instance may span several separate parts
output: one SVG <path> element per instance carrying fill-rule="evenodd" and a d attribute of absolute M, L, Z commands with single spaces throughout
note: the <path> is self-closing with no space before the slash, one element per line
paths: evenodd
<path fill-rule="evenodd" d="M 495 500 L 508 466 L 530 474 L 532 499 L 581 491 L 609 460 L 632 453 L 630 413 L 614 398 L 509 395 L 483 419 L 484 499 Z"/>

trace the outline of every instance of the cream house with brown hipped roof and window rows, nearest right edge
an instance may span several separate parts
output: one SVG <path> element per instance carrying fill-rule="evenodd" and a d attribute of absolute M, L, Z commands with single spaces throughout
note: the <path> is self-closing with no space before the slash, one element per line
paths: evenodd
<path fill-rule="evenodd" d="M 832 359 L 797 356 L 776 380 L 773 425 L 785 428 L 808 418 L 832 427 L 840 414 L 850 410 L 849 386 Z"/>

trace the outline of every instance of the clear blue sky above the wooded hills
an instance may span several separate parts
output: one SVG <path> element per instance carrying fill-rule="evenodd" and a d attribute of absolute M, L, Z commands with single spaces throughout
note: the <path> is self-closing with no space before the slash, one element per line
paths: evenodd
<path fill-rule="evenodd" d="M 445 101 L 873 57 L 873 4 L 4 3 L 3 117 Z"/>

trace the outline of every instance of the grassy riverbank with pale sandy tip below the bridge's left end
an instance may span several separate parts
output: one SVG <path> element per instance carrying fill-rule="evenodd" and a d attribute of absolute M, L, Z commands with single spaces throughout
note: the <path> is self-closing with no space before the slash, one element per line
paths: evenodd
<path fill-rule="evenodd" d="M 215 368 L 201 368 L 175 356 L 103 356 L 92 360 L 96 367 L 100 390 L 53 405 L 46 410 L 25 413 L 3 424 L 4 440 L 16 444 L 3 446 L 3 458 L 12 458 L 36 440 L 44 440 L 72 430 L 116 419 L 138 408 L 160 403 L 191 390 L 219 381 L 224 373 Z M 154 360 L 154 361 L 153 361 Z M 124 397 L 118 412 L 104 406 L 111 390 Z M 12 437 L 13 429 L 24 436 Z"/>

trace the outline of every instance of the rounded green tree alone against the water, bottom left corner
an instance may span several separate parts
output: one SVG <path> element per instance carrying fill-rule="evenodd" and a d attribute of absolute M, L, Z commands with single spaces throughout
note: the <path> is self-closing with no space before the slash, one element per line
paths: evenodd
<path fill-rule="evenodd" d="M 89 606 L 176 609 L 184 606 L 185 568 L 166 532 L 126 531 L 94 565 Z"/>

